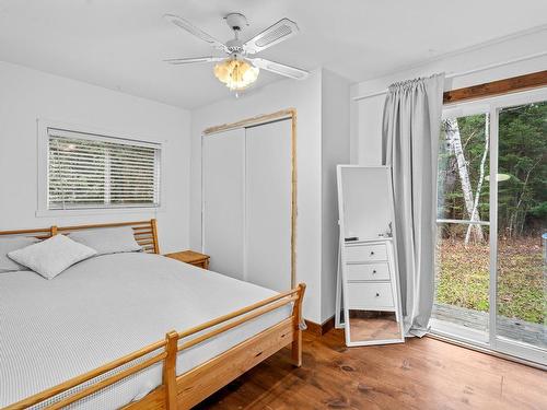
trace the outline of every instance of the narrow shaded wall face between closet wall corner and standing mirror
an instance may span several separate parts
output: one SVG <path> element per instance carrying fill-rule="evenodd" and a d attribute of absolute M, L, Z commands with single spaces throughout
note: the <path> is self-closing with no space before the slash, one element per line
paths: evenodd
<path fill-rule="evenodd" d="M 349 163 L 350 82 L 328 70 L 322 78 L 322 276 L 321 323 L 335 313 L 338 262 L 336 165 Z"/>

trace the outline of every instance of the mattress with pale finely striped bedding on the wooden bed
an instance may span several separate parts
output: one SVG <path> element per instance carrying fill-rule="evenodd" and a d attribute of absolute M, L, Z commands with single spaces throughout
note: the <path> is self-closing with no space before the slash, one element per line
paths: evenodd
<path fill-rule="evenodd" d="M 1 273 L 0 407 L 161 340 L 168 330 L 190 328 L 275 294 L 142 253 L 94 257 L 49 281 L 32 271 Z M 179 352 L 177 375 L 283 320 L 291 309 L 286 305 Z M 70 408 L 116 409 L 161 380 L 162 364 L 156 363 Z"/>

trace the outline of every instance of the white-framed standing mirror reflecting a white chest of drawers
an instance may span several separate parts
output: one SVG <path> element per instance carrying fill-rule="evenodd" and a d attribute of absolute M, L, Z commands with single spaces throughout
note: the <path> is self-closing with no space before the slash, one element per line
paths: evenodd
<path fill-rule="evenodd" d="M 338 165 L 337 178 L 336 324 L 345 328 L 350 347 L 404 342 L 391 169 Z"/>

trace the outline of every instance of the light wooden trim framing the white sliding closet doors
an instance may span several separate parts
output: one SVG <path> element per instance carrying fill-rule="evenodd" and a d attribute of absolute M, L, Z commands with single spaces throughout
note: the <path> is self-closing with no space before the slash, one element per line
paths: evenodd
<path fill-rule="evenodd" d="M 218 132 L 265 125 L 281 119 L 291 120 L 291 288 L 296 283 L 296 215 L 298 215 L 298 172 L 296 172 L 296 108 L 286 108 L 270 114 L 260 114 L 234 122 L 206 128 L 202 138 Z M 201 153 L 202 159 L 202 153 Z M 201 179 L 202 181 L 202 179 Z M 203 198 L 201 197 L 201 202 Z M 201 225 L 203 226 L 203 225 Z M 201 235 L 203 233 L 201 232 Z"/>

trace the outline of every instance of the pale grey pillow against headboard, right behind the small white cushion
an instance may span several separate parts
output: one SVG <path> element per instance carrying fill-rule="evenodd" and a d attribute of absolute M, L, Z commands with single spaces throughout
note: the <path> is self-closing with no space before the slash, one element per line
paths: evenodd
<path fill-rule="evenodd" d="M 69 236 L 72 241 L 95 249 L 97 255 L 142 250 L 141 246 L 135 241 L 131 226 L 77 231 Z"/>

